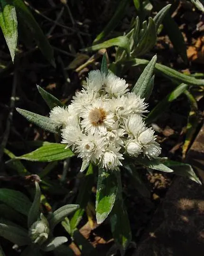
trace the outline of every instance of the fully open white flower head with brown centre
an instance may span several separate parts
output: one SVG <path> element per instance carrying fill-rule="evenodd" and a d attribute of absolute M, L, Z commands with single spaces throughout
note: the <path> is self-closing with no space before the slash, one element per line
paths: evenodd
<path fill-rule="evenodd" d="M 110 112 L 108 102 L 99 98 L 93 104 L 87 106 L 81 114 L 83 120 L 81 126 L 85 132 L 106 133 L 107 128 L 111 127 L 115 122 L 113 114 Z"/>

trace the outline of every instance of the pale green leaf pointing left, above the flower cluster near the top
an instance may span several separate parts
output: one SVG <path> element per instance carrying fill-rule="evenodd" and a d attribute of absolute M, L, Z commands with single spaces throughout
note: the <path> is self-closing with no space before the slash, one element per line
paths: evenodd
<path fill-rule="evenodd" d="M 93 45 L 91 47 L 84 48 L 84 49 L 82 49 L 82 51 L 97 51 L 102 48 L 109 48 L 112 46 L 120 46 L 121 48 L 126 50 L 127 54 L 130 53 L 129 40 L 125 36 L 111 38 L 107 41 L 104 41 L 101 44 L 97 44 L 97 45 Z"/>

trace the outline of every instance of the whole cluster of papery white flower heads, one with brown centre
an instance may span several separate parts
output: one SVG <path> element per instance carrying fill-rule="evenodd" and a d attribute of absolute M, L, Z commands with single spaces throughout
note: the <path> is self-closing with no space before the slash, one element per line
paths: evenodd
<path fill-rule="evenodd" d="M 50 112 L 52 122 L 62 129 L 62 143 L 83 159 L 81 171 L 90 161 L 106 170 L 117 169 L 124 153 L 149 159 L 160 154 L 154 131 L 143 121 L 147 104 L 128 91 L 124 79 L 94 70 L 70 105 Z"/>

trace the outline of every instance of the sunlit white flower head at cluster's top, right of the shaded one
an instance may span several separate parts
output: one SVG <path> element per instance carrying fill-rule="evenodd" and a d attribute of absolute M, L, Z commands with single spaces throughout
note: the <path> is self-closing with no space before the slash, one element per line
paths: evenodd
<path fill-rule="evenodd" d="M 104 89 L 105 91 L 114 97 L 124 95 L 128 92 L 128 84 L 124 79 L 115 76 L 113 73 L 109 73 L 104 79 Z"/>

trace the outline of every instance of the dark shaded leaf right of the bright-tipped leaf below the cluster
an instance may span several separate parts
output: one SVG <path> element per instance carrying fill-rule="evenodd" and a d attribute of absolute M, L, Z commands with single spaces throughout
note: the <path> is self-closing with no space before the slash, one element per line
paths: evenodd
<path fill-rule="evenodd" d="M 122 199 L 122 185 L 121 185 L 121 174 L 117 173 L 118 178 L 118 191 L 117 199 L 113 206 L 110 216 L 111 231 L 115 243 L 118 245 L 121 255 L 124 256 L 125 249 L 128 247 L 132 235 L 130 229 L 130 222 L 127 211 Z"/>

